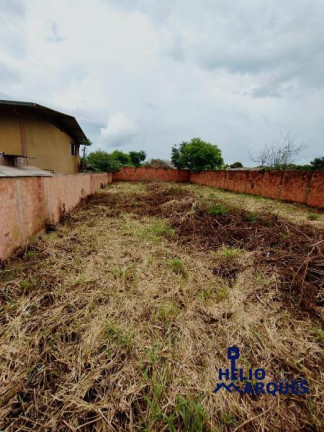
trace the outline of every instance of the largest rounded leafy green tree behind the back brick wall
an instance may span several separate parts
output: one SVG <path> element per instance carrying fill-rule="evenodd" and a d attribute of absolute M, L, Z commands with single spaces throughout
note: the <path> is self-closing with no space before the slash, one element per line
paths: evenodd
<path fill-rule="evenodd" d="M 217 145 L 193 138 L 172 147 L 172 164 L 177 169 L 199 172 L 220 169 L 224 164 L 221 150 Z"/>

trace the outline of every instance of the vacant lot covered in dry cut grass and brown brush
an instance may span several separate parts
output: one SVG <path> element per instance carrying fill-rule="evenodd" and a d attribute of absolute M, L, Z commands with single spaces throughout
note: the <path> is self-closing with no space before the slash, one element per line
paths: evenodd
<path fill-rule="evenodd" d="M 278 206 L 120 183 L 50 226 L 1 271 L 0 429 L 323 430 L 322 215 Z M 213 393 L 233 345 L 309 392 Z"/>

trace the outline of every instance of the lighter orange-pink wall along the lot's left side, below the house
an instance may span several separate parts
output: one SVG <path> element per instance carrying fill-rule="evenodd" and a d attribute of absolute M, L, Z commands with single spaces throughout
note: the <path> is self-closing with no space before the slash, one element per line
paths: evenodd
<path fill-rule="evenodd" d="M 0 260 L 111 182 L 111 173 L 1 178 Z"/>

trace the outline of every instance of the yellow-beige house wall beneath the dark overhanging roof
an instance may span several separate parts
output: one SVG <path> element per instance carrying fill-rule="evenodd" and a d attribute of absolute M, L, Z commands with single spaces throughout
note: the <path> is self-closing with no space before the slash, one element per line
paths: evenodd
<path fill-rule="evenodd" d="M 0 152 L 35 158 L 27 159 L 29 165 L 54 173 L 77 173 L 80 158 L 71 155 L 72 142 L 68 134 L 39 116 L 1 113 Z"/>

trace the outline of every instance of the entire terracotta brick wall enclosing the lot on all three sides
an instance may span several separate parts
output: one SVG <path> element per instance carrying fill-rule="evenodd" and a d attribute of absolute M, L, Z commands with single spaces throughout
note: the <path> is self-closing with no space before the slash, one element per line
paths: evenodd
<path fill-rule="evenodd" d="M 191 182 L 324 208 L 323 171 L 204 171 L 124 167 L 103 174 L 0 179 L 0 260 L 112 181 Z"/>

